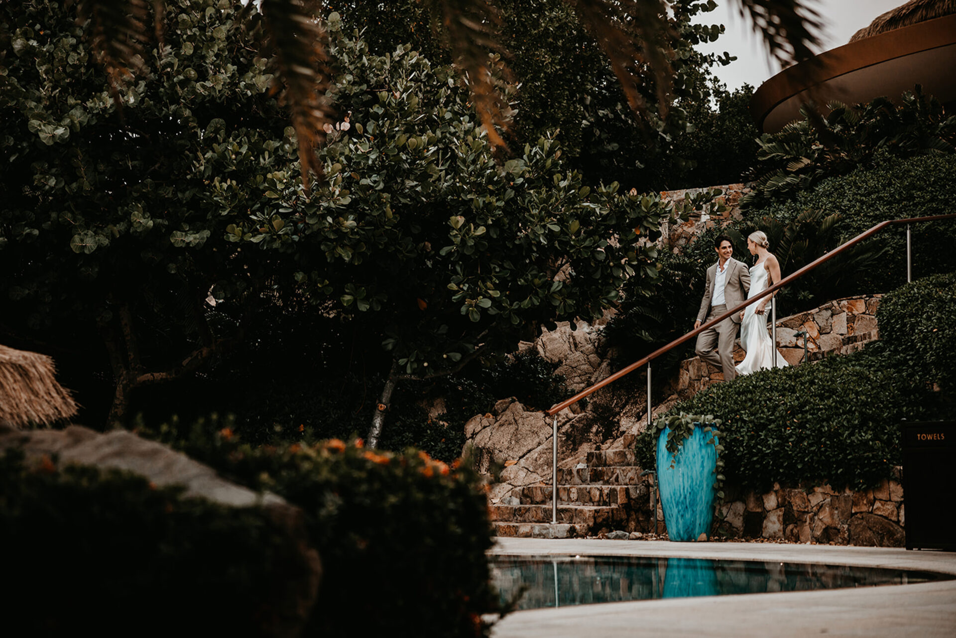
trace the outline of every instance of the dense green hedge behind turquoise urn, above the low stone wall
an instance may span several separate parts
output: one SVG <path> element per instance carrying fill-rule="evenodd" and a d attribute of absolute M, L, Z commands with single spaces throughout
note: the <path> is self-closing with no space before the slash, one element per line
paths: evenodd
<path fill-rule="evenodd" d="M 735 483 L 758 490 L 774 481 L 866 488 L 901 463 L 901 420 L 930 417 L 935 403 L 925 385 L 867 349 L 711 385 L 671 412 L 724 420 L 725 473 Z M 654 466 L 651 449 L 638 445 L 642 467 Z"/>

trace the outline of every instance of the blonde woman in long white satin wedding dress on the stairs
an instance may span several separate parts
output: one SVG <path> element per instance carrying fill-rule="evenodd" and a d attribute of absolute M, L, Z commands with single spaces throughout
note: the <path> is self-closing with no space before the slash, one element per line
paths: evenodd
<path fill-rule="evenodd" d="M 768 250 L 770 242 L 763 231 L 750 233 L 747 248 L 750 254 L 757 255 L 757 263 L 750 268 L 750 294 L 747 298 L 752 298 L 780 280 L 780 262 Z M 771 297 L 773 296 L 764 297 L 747 306 L 740 314 L 740 345 L 747 352 L 747 356 L 736 366 L 737 374 L 750 374 L 773 367 L 773 343 L 767 332 L 767 315 L 764 312 Z M 787 361 L 778 351 L 776 366 L 787 365 Z"/>

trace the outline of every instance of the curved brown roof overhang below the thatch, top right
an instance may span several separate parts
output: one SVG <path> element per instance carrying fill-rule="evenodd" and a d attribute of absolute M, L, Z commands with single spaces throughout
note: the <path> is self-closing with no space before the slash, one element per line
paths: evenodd
<path fill-rule="evenodd" d="M 760 85 L 750 113 L 765 133 L 800 119 L 800 105 L 923 93 L 956 102 L 956 14 L 865 37 L 784 69 Z"/>

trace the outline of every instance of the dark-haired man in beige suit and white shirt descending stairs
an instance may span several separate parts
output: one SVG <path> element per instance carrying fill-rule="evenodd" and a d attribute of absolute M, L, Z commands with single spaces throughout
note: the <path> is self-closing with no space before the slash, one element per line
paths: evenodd
<path fill-rule="evenodd" d="M 730 257 L 733 254 L 730 238 L 727 235 L 717 237 L 714 250 L 717 251 L 718 260 L 707 269 L 707 288 L 697 321 L 694 322 L 694 330 L 700 328 L 702 323 L 723 315 L 728 308 L 742 303 L 750 291 L 750 270 Z M 724 381 L 737 376 L 737 369 L 733 365 L 733 341 L 737 338 L 739 327 L 740 314 L 734 313 L 733 317 L 724 319 L 697 336 L 697 355 L 707 363 L 723 368 Z"/>

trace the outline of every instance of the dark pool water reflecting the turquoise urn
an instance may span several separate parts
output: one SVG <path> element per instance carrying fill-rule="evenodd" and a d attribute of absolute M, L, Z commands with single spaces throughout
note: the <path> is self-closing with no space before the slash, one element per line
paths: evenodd
<path fill-rule="evenodd" d="M 797 562 L 501 555 L 490 561 L 491 580 L 501 592 L 502 602 L 511 601 L 523 590 L 518 609 L 954 578 L 927 571 Z"/>

